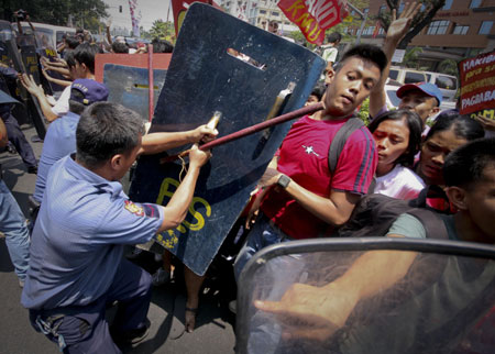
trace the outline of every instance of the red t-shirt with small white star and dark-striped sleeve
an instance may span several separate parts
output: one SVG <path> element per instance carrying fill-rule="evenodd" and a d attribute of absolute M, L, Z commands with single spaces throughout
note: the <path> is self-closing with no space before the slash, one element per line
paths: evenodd
<path fill-rule="evenodd" d="M 319 121 L 306 115 L 295 122 L 277 152 L 277 169 L 324 198 L 330 197 L 332 189 L 366 193 L 378 163 L 367 128 L 356 130 L 349 137 L 333 176 L 328 167 L 330 144 L 345 121 Z M 280 188 L 272 188 L 266 193 L 261 210 L 294 239 L 318 237 L 329 226 Z"/>

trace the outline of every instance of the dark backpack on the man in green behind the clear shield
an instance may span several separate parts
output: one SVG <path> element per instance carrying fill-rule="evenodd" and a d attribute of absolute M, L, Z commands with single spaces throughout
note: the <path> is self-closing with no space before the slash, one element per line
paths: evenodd
<path fill-rule="evenodd" d="M 426 193 L 424 193 L 426 196 Z M 417 199 L 402 200 L 384 195 L 367 195 L 355 206 L 349 221 L 336 230 L 337 237 L 385 236 L 394 221 L 403 213 L 416 217 L 424 225 L 428 239 L 448 240 L 443 220 Z"/>

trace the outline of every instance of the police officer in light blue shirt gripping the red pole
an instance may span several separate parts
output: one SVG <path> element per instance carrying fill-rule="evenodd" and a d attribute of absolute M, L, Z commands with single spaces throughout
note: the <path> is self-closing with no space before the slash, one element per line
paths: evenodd
<path fill-rule="evenodd" d="M 143 120 L 133 111 L 94 103 L 79 119 L 76 154 L 48 173 L 21 302 L 32 325 L 64 353 L 121 353 L 116 343 L 135 343 L 147 333 L 151 276 L 123 258 L 123 246 L 180 224 L 210 153 L 193 147 L 188 172 L 166 207 L 134 203 L 119 180 L 139 154 L 157 151 L 156 141 L 143 146 L 142 134 Z M 167 147 L 191 139 L 163 134 Z M 116 300 L 109 329 L 105 310 Z"/>

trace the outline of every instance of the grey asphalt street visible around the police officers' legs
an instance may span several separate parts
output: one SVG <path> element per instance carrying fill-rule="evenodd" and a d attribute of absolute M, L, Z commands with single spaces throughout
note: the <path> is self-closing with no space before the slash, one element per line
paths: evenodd
<path fill-rule="evenodd" d="M 31 125 L 22 130 L 31 142 L 35 131 Z M 42 143 L 32 143 L 34 153 L 40 158 Z M 22 211 L 29 215 L 28 197 L 34 191 L 36 176 L 26 173 L 19 155 L 0 153 L 3 180 L 18 200 Z M 153 272 L 158 266 L 153 255 L 141 254 L 135 263 Z M 223 265 L 224 266 L 224 265 Z M 177 272 L 179 273 L 179 272 Z M 234 353 L 235 317 L 229 311 L 228 302 L 232 300 L 235 283 L 230 276 L 217 272 L 205 281 L 196 319 L 196 330 L 184 333 L 185 289 L 180 276 L 170 284 L 153 289 L 148 311 L 150 334 L 134 347 L 124 349 L 124 353 Z M 3 235 L 0 235 L 0 354 L 55 354 L 59 353 L 55 343 L 36 333 L 30 325 L 28 310 L 19 302 L 21 288 L 10 262 Z M 109 309 L 111 320 L 114 309 Z"/>

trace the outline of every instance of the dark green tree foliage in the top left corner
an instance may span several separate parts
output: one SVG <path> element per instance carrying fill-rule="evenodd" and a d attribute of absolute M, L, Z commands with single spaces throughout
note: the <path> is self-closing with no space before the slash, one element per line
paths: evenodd
<path fill-rule="evenodd" d="M 102 0 L 3 0 L 1 18 L 15 21 L 13 12 L 23 9 L 31 21 L 67 25 L 69 15 L 73 24 L 98 32 L 101 19 L 108 18 L 108 5 Z"/>

